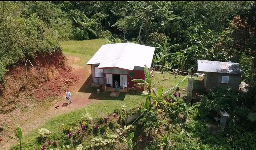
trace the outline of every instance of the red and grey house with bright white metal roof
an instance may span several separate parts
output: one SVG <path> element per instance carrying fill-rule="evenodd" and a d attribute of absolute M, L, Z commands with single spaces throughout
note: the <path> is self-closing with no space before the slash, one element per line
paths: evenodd
<path fill-rule="evenodd" d="M 91 65 L 92 85 L 101 84 L 103 87 L 105 85 L 112 87 L 114 80 L 117 80 L 122 89 L 127 83 L 125 88 L 128 92 L 128 89 L 135 84 L 131 81 L 132 79 L 145 79 L 144 65 L 151 67 L 154 51 L 154 47 L 135 43 L 102 45 L 87 62 L 87 65 Z"/>

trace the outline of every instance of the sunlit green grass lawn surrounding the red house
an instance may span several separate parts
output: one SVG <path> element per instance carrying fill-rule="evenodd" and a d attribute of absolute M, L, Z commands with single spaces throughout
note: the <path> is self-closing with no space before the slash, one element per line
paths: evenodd
<path fill-rule="evenodd" d="M 91 67 L 86 65 L 87 61 L 97 52 L 97 50 L 103 45 L 106 44 L 107 41 L 105 39 L 95 39 L 95 40 L 84 40 L 84 41 L 66 41 L 61 42 L 62 49 L 65 55 L 67 56 L 75 56 L 78 57 L 80 60 L 75 63 L 75 65 L 79 65 L 84 69 L 90 70 Z M 161 85 L 164 86 L 164 91 L 171 89 L 172 87 L 176 86 L 185 76 L 178 75 L 177 78 L 174 78 L 174 75 L 170 73 L 157 73 L 154 72 L 154 81 L 159 81 L 165 78 L 171 78 L 165 82 L 161 82 L 155 88 L 159 88 Z M 86 75 L 88 76 L 88 75 Z M 187 77 L 188 78 L 188 77 Z M 186 93 L 187 88 L 187 78 L 182 81 L 178 87 L 180 88 L 180 93 Z M 195 80 L 198 80 L 197 77 L 194 77 Z M 85 82 L 86 84 L 86 82 Z M 112 113 L 114 109 L 121 108 L 121 105 L 126 105 L 127 109 L 132 109 L 137 107 L 139 104 L 144 102 L 144 97 L 141 96 L 141 93 L 130 91 L 128 94 L 121 93 L 118 98 L 110 97 L 110 93 L 101 93 L 100 95 L 96 93 L 96 89 L 91 88 L 87 84 L 84 86 L 84 89 L 87 93 L 91 93 L 91 99 L 98 99 L 95 100 L 96 102 L 84 106 L 81 109 L 72 111 L 67 114 L 62 114 L 60 116 L 52 117 L 47 121 L 44 125 L 34 129 L 29 134 L 25 135 L 23 138 L 24 149 L 33 149 L 34 147 L 38 147 L 38 143 L 36 142 L 36 138 L 38 136 L 38 129 L 40 128 L 47 128 L 51 132 L 59 132 L 61 130 L 62 125 L 67 125 L 70 122 L 74 122 L 78 120 L 83 113 L 90 113 L 92 117 L 106 117 L 108 114 Z M 83 86 L 81 88 L 83 88 Z M 195 82 L 194 87 L 198 87 L 199 84 Z M 176 88 L 174 88 L 175 90 Z M 185 91 L 182 89 L 185 89 Z M 174 91 L 173 90 L 173 91 Z M 173 92 L 172 91 L 172 92 Z M 80 91 L 79 91 L 80 92 Z M 89 99 L 90 99 L 89 97 Z"/>

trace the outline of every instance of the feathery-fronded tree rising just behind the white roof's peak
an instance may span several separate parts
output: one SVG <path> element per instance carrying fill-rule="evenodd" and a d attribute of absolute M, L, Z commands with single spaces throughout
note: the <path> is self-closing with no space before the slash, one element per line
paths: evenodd
<path fill-rule="evenodd" d="M 132 31 L 136 29 L 138 19 L 134 16 L 126 16 L 116 21 L 112 25 L 112 27 L 117 27 L 118 30 L 123 32 L 123 38 L 125 39 L 125 35 L 128 31 Z"/>

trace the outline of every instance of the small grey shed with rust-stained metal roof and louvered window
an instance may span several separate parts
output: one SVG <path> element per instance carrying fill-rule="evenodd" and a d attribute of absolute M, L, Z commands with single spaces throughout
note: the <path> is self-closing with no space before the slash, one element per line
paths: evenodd
<path fill-rule="evenodd" d="M 239 63 L 197 60 L 197 65 L 198 72 L 205 74 L 206 92 L 217 85 L 229 86 L 234 91 L 239 91 L 242 81 L 242 70 Z"/>

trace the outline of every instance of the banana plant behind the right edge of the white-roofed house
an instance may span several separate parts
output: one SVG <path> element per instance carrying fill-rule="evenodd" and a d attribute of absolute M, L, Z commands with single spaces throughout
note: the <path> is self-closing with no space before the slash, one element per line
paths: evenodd
<path fill-rule="evenodd" d="M 166 66 L 167 58 L 168 58 L 168 56 L 171 55 L 170 53 L 168 53 L 169 50 L 171 48 L 174 48 L 179 45 L 179 44 L 174 44 L 174 45 L 171 45 L 170 47 L 166 47 L 167 46 L 167 38 L 165 39 L 163 46 L 161 46 L 160 44 L 155 43 L 155 42 L 153 42 L 153 44 L 155 44 L 157 46 L 156 49 L 159 50 L 158 54 L 156 54 L 156 57 L 157 57 L 157 60 L 159 60 L 161 62 L 162 66 Z"/>

